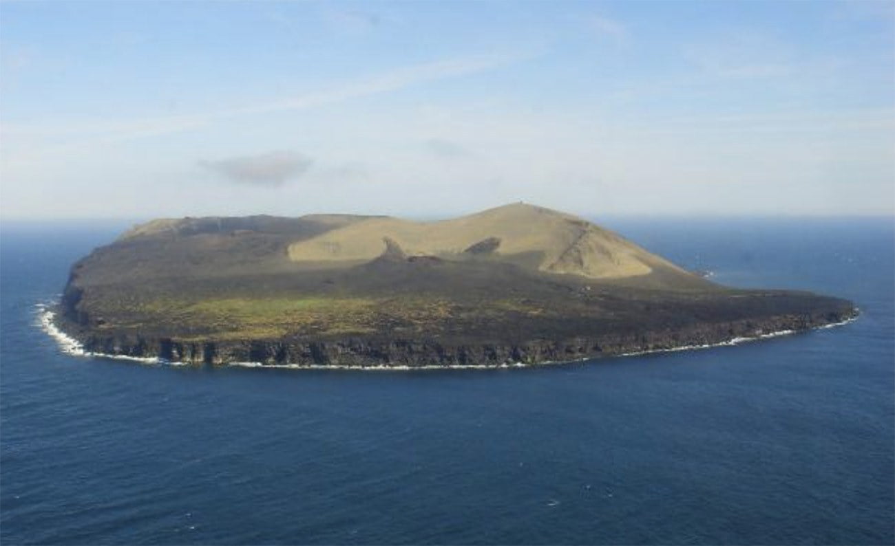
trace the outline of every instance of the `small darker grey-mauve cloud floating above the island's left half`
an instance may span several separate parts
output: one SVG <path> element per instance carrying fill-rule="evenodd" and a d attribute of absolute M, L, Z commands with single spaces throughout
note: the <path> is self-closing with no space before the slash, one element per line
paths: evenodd
<path fill-rule="evenodd" d="M 311 167 L 313 160 L 298 152 L 275 151 L 199 163 L 228 181 L 277 187 L 303 175 Z"/>

